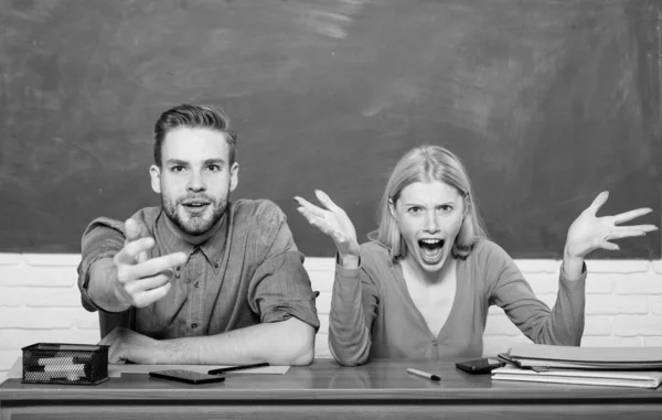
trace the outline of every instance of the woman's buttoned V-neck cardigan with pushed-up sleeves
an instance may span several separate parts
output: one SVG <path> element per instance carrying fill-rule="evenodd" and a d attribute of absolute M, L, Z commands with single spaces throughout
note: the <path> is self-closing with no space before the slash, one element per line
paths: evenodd
<path fill-rule="evenodd" d="M 481 239 L 467 259 L 457 260 L 455 300 L 446 323 L 433 333 L 409 294 L 401 265 L 386 247 L 372 241 L 361 246 L 360 268 L 335 267 L 329 346 L 343 365 L 377 357 L 478 358 L 493 304 L 536 344 L 578 346 L 585 288 L 585 269 L 570 281 L 562 267 L 551 310 L 535 297 L 512 258 L 499 245 Z"/>

